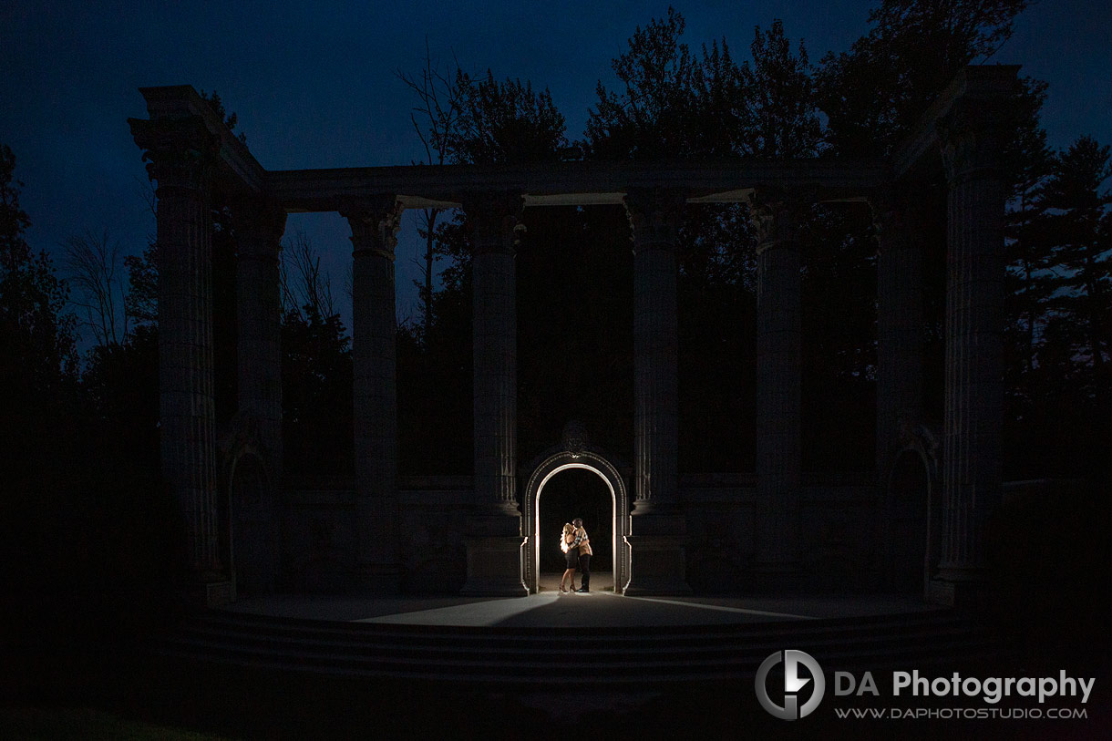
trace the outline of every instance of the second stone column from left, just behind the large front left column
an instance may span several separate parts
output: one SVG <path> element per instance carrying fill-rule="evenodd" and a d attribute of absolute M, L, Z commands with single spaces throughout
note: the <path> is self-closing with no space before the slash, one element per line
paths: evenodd
<path fill-rule="evenodd" d="M 240 201 L 236 230 L 236 365 L 240 423 L 261 448 L 271 488 L 282 472 L 281 298 L 278 253 L 286 211 L 261 199 Z"/>

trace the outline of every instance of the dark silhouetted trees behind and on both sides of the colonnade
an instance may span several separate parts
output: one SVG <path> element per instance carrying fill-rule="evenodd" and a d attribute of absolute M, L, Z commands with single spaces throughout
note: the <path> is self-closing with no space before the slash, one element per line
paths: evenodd
<path fill-rule="evenodd" d="M 429 162 L 568 158 L 884 156 L 966 63 L 1011 33 L 1023 0 L 882 0 L 865 36 L 813 61 L 780 21 L 747 59 L 725 38 L 697 48 L 684 20 L 638 28 L 569 138 L 546 89 L 428 61 L 399 77 Z M 1109 147 L 1061 151 L 1039 121 L 1045 85 L 1024 78 L 1006 118 L 1010 187 L 1006 478 L 1091 474 L 1109 449 L 1112 172 Z M 404 86 L 405 87 L 405 86 Z M 235 126 L 217 96 L 214 108 Z M 573 135 L 574 136 L 574 135 Z M 107 234 L 54 266 L 29 246 L 14 155 L 0 160 L 0 486 L 12 593 L 67 579 L 148 589 L 173 563 L 172 507 L 158 481 L 157 279 L 152 245 L 122 260 Z M 923 241 L 944 245 L 944 184 L 917 198 Z M 932 195 L 933 194 L 933 195 Z M 37 218 L 48 218 L 38 215 Z M 528 209 L 518 248 L 519 461 L 570 418 L 632 458 L 629 227 L 619 207 Z M 235 413 L 232 246 L 214 214 L 217 416 Z M 420 315 L 398 329 L 401 473 L 469 473 L 470 253 L 461 214 L 425 214 Z M 875 234 L 864 205 L 816 205 L 804 247 L 804 467 L 873 466 Z M 754 467 L 755 234 L 745 206 L 687 209 L 679 244 L 681 470 Z M 942 418 L 944 255 L 929 254 L 926 409 Z M 351 357 L 315 247 L 289 235 L 282 270 L 285 449 L 291 474 L 351 471 Z M 82 261 L 83 260 L 83 261 Z M 85 266 L 83 270 L 81 266 Z M 125 278 L 126 274 L 126 278 Z M 439 275 L 439 281 L 435 276 Z M 78 279 L 81 278 L 81 279 Z M 120 320 L 122 318 L 122 320 Z M 78 355 L 78 336 L 93 344 Z M 90 526 L 89 523 L 99 523 Z M 126 536 L 123 534 L 127 534 Z M 169 539 L 169 540 L 167 540 Z M 126 542 L 127 547 L 120 547 Z M 57 586 L 57 585 L 54 585 Z M 87 587 L 92 589 L 92 587 Z M 62 591 L 58 591 L 62 594 Z M 133 603 L 131 603 L 133 604 Z"/>

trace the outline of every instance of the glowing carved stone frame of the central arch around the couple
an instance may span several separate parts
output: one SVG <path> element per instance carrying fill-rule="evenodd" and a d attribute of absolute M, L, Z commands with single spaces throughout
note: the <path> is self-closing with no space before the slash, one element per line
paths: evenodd
<path fill-rule="evenodd" d="M 626 485 L 617 468 L 598 453 L 580 451 L 572 453 L 563 451 L 547 456 L 529 475 L 525 487 L 523 501 L 523 522 L 528 540 L 524 549 L 524 563 L 522 567 L 525 576 L 525 585 L 530 593 L 539 591 L 540 582 L 540 549 L 543 543 L 550 544 L 553 549 L 558 547 L 553 543 L 556 533 L 549 534 L 540 530 L 540 495 L 545 485 L 556 475 L 569 470 L 583 470 L 594 473 L 603 480 L 610 498 L 610 539 L 609 557 L 610 573 L 614 579 L 614 592 L 622 594 L 625 585 L 629 582 L 629 546 L 625 537 L 629 534 L 629 501 Z M 605 530 L 605 528 L 604 528 Z M 590 531 L 588 531 L 589 533 Z M 599 545 L 604 544 L 603 539 L 592 536 L 592 547 L 598 554 Z M 606 547 L 603 545 L 603 547 Z M 592 569 L 593 573 L 597 573 Z"/>

